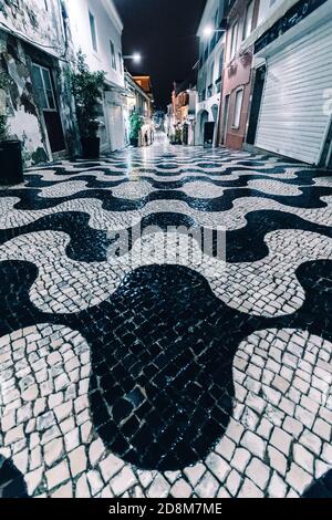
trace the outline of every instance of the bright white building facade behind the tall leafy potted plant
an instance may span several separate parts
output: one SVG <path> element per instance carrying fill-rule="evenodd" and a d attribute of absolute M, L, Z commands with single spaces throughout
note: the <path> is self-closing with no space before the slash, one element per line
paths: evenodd
<path fill-rule="evenodd" d="M 122 55 L 123 23 L 112 0 L 65 1 L 72 41 L 91 71 L 106 73 L 98 122 L 102 152 L 126 145 L 126 91 Z"/>

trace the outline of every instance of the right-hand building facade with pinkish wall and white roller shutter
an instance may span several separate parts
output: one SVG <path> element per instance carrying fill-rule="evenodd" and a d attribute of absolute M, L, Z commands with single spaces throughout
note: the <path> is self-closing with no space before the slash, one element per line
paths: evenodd
<path fill-rule="evenodd" d="M 231 0 L 226 15 L 218 144 L 331 167 L 331 0 Z"/>

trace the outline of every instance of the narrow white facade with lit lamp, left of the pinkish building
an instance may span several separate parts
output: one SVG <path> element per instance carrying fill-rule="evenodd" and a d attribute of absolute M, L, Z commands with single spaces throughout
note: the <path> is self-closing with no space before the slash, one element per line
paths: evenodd
<path fill-rule="evenodd" d="M 225 50 L 224 0 L 208 0 L 198 28 L 199 61 L 197 63 L 196 144 L 204 144 L 205 123 L 215 123 L 215 138 L 221 100 L 222 64 Z M 210 35 L 206 28 L 212 28 Z"/>

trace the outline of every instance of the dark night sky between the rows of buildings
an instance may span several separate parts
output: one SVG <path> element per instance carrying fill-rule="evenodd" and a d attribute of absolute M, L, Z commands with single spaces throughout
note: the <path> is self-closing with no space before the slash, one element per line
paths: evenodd
<path fill-rule="evenodd" d="M 206 0 L 114 0 L 124 22 L 123 51 L 141 52 L 133 74 L 152 76 L 157 108 L 170 103 L 173 81 L 186 80 L 198 60 L 196 32 Z"/>

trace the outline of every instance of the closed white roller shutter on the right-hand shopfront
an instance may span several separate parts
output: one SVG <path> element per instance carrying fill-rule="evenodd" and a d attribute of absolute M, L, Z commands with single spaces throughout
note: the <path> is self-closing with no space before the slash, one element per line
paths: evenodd
<path fill-rule="evenodd" d="M 307 31 L 267 61 L 256 146 L 318 164 L 330 123 L 332 20 Z"/>

